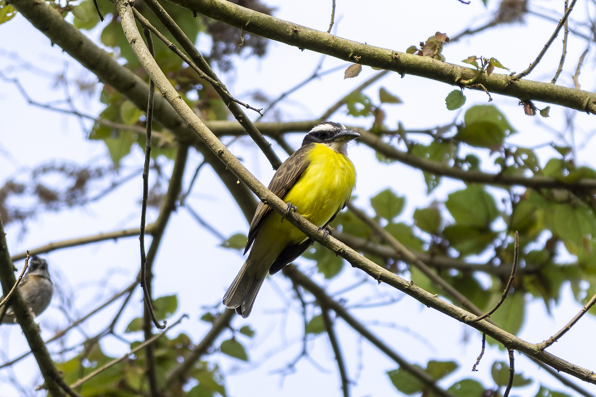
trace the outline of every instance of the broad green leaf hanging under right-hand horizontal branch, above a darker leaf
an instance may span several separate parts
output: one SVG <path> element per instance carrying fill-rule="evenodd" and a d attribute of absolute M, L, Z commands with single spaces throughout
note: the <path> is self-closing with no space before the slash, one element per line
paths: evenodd
<path fill-rule="evenodd" d="M 482 185 L 470 185 L 447 197 L 445 207 L 459 225 L 488 228 L 499 214 L 495 199 Z"/>

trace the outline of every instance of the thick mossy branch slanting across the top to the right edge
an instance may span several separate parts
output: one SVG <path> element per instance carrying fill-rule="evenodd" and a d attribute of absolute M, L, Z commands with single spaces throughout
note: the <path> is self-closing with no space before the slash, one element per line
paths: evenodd
<path fill-rule="evenodd" d="M 390 49 L 342 39 L 319 30 L 309 29 L 261 12 L 249 10 L 225 0 L 171 0 L 187 8 L 268 39 L 331 55 L 344 61 L 358 62 L 399 74 L 413 74 L 449 85 L 476 76 L 476 70 L 434 60 L 430 57 L 406 54 Z M 507 74 L 483 73 L 476 82 L 491 93 L 513 96 L 520 100 L 548 102 L 550 104 L 596 114 L 596 93 L 562 87 L 531 80 L 514 81 Z M 473 87 L 473 89 L 482 89 Z"/>

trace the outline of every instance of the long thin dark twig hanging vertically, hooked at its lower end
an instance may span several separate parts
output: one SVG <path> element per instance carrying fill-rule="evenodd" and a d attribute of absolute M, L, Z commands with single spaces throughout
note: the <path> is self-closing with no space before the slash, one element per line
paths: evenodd
<path fill-rule="evenodd" d="M 153 39 L 151 39 L 151 32 L 144 29 L 145 38 L 147 39 L 147 47 L 151 56 L 154 57 Z M 141 208 L 141 230 L 139 233 L 139 242 L 141 243 L 141 287 L 143 289 L 143 296 L 145 298 L 145 305 L 151 316 L 153 324 L 159 329 L 166 327 L 166 321 L 160 324 L 155 317 L 153 304 L 151 304 L 151 294 L 147 286 L 147 256 L 145 255 L 145 218 L 147 217 L 147 199 L 149 196 L 149 163 L 151 161 L 151 127 L 153 124 L 153 97 L 155 94 L 155 83 L 149 80 L 149 98 L 147 101 L 147 135 L 145 138 L 145 164 L 143 167 L 143 201 Z"/>

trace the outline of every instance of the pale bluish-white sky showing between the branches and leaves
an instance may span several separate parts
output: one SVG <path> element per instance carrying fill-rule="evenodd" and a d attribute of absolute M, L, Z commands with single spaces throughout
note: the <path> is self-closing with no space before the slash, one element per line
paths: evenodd
<path fill-rule="evenodd" d="M 550 7 L 554 2 L 544 3 Z M 268 2 L 275 5 L 275 16 L 291 20 L 297 24 L 313 29 L 327 30 L 330 16 L 330 2 Z M 542 2 L 538 3 L 542 5 Z M 495 7 L 489 2 L 491 8 Z M 578 15 L 585 12 L 585 4 L 579 4 Z M 583 8 L 582 8 L 583 7 Z M 383 12 L 380 12 L 383 10 Z M 542 11 L 540 8 L 536 10 Z M 480 15 L 480 16 L 479 16 Z M 458 1 L 368 1 L 366 4 L 356 1 L 339 1 L 336 8 L 336 34 L 338 36 L 367 42 L 384 48 L 405 51 L 410 45 L 426 40 L 434 32 L 446 32 L 455 35 L 468 26 L 478 26 L 488 19 L 483 5 L 479 1 L 472 1 L 470 5 Z M 527 28 L 512 25 L 507 29 L 491 30 L 482 33 L 474 39 L 463 39 L 461 42 L 447 45 L 443 54 L 447 61 L 458 63 L 470 55 L 495 57 L 512 71 L 521 71 L 533 61 L 536 54 L 544 45 L 544 37 L 550 35 L 554 24 L 536 17 L 528 17 L 532 27 L 532 37 L 526 37 Z M 27 92 L 39 102 L 51 102 L 64 98 L 64 92 L 54 89 L 54 78 L 67 65 L 70 79 L 91 79 L 80 65 L 69 60 L 60 48 L 51 47 L 48 39 L 33 29 L 20 15 L 10 23 L 0 26 L 0 36 L 11 40 L 3 40 L 0 45 L 0 71 L 10 77 L 18 77 Z M 90 32 L 94 39 L 98 31 Z M 200 38 L 199 49 L 210 48 L 209 40 Z M 575 62 L 583 52 L 585 43 L 576 40 L 568 48 L 569 63 L 561 75 L 560 83 L 571 85 L 571 76 L 575 72 Z M 550 80 L 553 64 L 560 58 L 560 40 L 557 39 L 551 51 L 547 53 L 544 62 L 530 75 L 535 80 Z M 22 61 L 15 61 L 12 54 L 17 53 Z M 271 43 L 270 56 L 265 60 L 251 58 L 241 62 L 234 73 L 223 76 L 228 89 L 241 100 L 249 98 L 256 89 L 263 90 L 275 97 L 290 89 L 296 83 L 312 74 L 313 68 L 321 59 L 320 54 L 310 51 L 300 51 L 297 48 L 280 43 Z M 324 70 L 343 61 L 327 58 Z M 27 66 L 29 65 L 29 66 Z M 33 65 L 37 70 L 31 70 Z M 347 66 L 347 64 L 346 64 Z M 581 76 L 582 87 L 594 90 L 594 76 L 589 71 L 594 70 L 594 58 L 588 58 Z M 337 99 L 342 98 L 355 86 L 375 73 L 371 68 L 364 68 L 361 76 L 352 80 L 343 80 L 343 70 L 332 73 L 321 80 L 315 80 L 308 86 L 294 93 L 288 101 L 280 105 L 283 120 L 303 120 L 318 117 Z M 406 129 L 423 129 L 450 123 L 461 114 L 445 110 L 445 96 L 454 89 L 452 86 L 431 82 L 420 77 L 406 76 L 403 79 L 397 74 L 377 82 L 367 90 L 373 98 L 377 98 L 378 88 L 384 86 L 390 92 L 399 95 L 408 107 L 392 105 L 386 107 L 387 124 L 396 127 L 401 121 Z M 467 104 L 485 104 L 486 95 L 483 92 L 467 90 Z M 97 114 L 101 110 L 98 96 L 85 98 L 73 90 L 76 106 L 85 112 Z M 539 123 L 548 123 L 553 130 L 560 130 L 566 120 L 566 111 L 554 107 L 551 118 L 541 120 L 530 118 L 523 114 L 522 108 L 517 106 L 517 99 L 504 96 L 493 96 L 492 103 L 505 111 L 511 123 L 520 131 L 512 137 L 511 143 L 526 146 L 539 146 L 554 139 L 554 133 L 545 133 L 540 129 L 540 135 L 535 133 Z M 536 104 L 542 108 L 542 104 Z M 405 110 L 408 111 L 405 111 Z M 415 111 L 414 111 L 415 110 Z M 97 142 L 85 139 L 89 123 L 82 128 L 76 118 L 47 111 L 27 104 L 15 85 L 0 80 L 0 181 L 8 177 L 20 175 L 36 164 L 42 164 L 55 158 L 67 159 L 78 164 L 102 164 L 105 158 L 105 147 Z M 271 116 L 272 117 L 272 116 Z M 575 113 L 578 121 L 578 136 L 586 136 L 591 132 L 593 121 L 585 114 Z M 333 118 L 350 125 L 368 126 L 370 120 L 354 120 L 340 112 Z M 291 144 L 297 148 L 302 136 L 291 137 Z M 578 139 L 579 140 L 579 139 Z M 594 167 L 592 153 L 593 143 L 588 142 L 578 152 L 578 162 L 590 164 Z M 285 158 L 283 151 L 274 145 L 278 155 Z M 241 157 L 244 164 L 263 183 L 267 183 L 273 171 L 264 156 L 254 149 L 248 139 L 237 140 L 231 150 Z M 543 158 L 552 155 L 552 149 L 539 149 Z M 400 195 L 407 195 L 406 208 L 399 221 L 411 221 L 411 214 L 417 207 L 429 204 L 434 199 L 444 199 L 446 194 L 460 189 L 464 185 L 459 182 L 443 179 L 442 185 L 432 196 L 426 195 L 426 186 L 420 177 L 420 172 L 401 164 L 381 166 L 364 145 L 353 143 L 349 147 L 349 154 L 358 170 L 358 182 L 355 190 L 355 204 L 370 209 L 368 198 L 384 188 L 391 186 Z M 489 164 L 491 158 L 486 157 L 483 164 Z M 135 149 L 123 163 L 122 174 L 132 172 L 142 164 L 141 149 Z M 184 186 L 190 183 L 194 168 L 200 164 L 201 158 L 191 154 L 189 167 L 184 179 Z M 544 165 L 544 164 L 543 164 Z M 167 168 L 167 165 L 166 165 Z M 491 170 L 487 165 L 488 170 Z M 378 175 L 382 173 L 383 178 Z M 389 177 L 386 177 L 389 176 Z M 389 182 L 388 182 L 389 180 Z M 137 178 L 119 187 L 116 192 L 106 196 L 102 201 L 95 202 L 85 208 L 64 211 L 58 214 L 42 214 L 29 224 L 26 233 L 21 233 L 18 226 L 7 228 L 8 243 L 12 253 L 24 249 L 44 245 L 50 241 L 57 241 L 82 235 L 94 235 L 98 232 L 137 227 L 139 223 L 139 200 L 141 192 L 141 178 Z M 502 195 L 503 192 L 491 189 L 492 193 Z M 224 236 L 234 233 L 247 232 L 247 223 L 232 199 L 225 194 L 224 187 L 208 167 L 201 169 L 197 187 L 190 197 L 194 208 L 200 208 L 204 219 L 215 225 Z M 370 212 L 372 213 L 372 212 Z M 150 216 L 155 217 L 151 212 Z M 240 252 L 219 248 L 221 241 L 198 225 L 188 212 L 179 210 L 173 215 L 163 246 L 156 262 L 156 296 L 177 293 L 181 308 L 173 318 L 186 312 L 190 320 L 184 321 L 176 330 L 188 332 L 195 342 L 207 332 L 209 326 L 198 320 L 198 317 L 208 307 L 221 310 L 221 296 L 237 273 L 243 262 Z M 118 242 L 103 242 L 82 248 L 67 249 L 46 255 L 51 265 L 52 277 L 60 285 L 59 290 L 69 296 L 73 290 L 77 291 L 76 299 L 70 302 L 75 311 L 84 314 L 97 302 L 131 283 L 138 269 L 138 239 L 121 239 Z M 306 273 L 315 273 L 312 262 L 300 260 L 300 268 Z M 22 266 L 22 262 L 17 264 Z M 362 304 L 365 299 L 372 302 L 395 300 L 393 304 L 380 307 L 353 308 L 353 314 L 371 330 L 381 336 L 396 351 L 411 362 L 424 364 L 428 360 L 451 360 L 458 357 L 462 366 L 448 377 L 442 386 L 449 386 L 455 380 L 471 376 L 470 368 L 479 353 L 481 336 L 471 329 L 462 326 L 457 321 L 445 320 L 438 312 L 426 308 L 411 298 L 404 296 L 386 285 L 377 285 L 368 280 L 363 274 L 349 266 L 344 267 L 341 277 L 327 282 L 315 275 L 317 282 L 328 287 L 331 292 L 337 292 L 355 282 L 365 280 L 358 287 L 355 295 L 360 299 L 347 302 L 348 305 Z M 219 362 L 226 373 L 226 387 L 231 396 L 303 396 L 305 393 L 315 395 L 339 395 L 340 383 L 334 364 L 333 351 L 328 340 L 319 336 L 309 340 L 311 358 L 300 360 L 295 371 L 284 371 L 288 363 L 299 355 L 302 349 L 302 317 L 296 302 L 291 301 L 291 285 L 283 277 L 271 277 L 259 293 L 253 314 L 249 319 L 236 318 L 234 326 L 240 327 L 250 324 L 256 329 L 254 340 L 243 340 L 249 347 L 251 361 L 246 364 L 225 355 L 216 353 L 207 360 Z M 52 307 L 39 317 L 42 325 L 42 336 L 53 335 L 53 330 L 60 329 L 67 324 L 66 318 L 58 310 L 60 302 L 54 297 Z M 289 305 L 289 308 L 288 308 Z M 134 317 L 141 310 L 141 295 L 136 291 L 135 298 L 125 318 Z M 528 318 L 524 324 L 520 337 L 530 342 L 540 342 L 567 323 L 580 307 L 573 301 L 569 287 L 564 289 L 563 298 L 557 307 L 552 308 L 552 314 L 545 313 L 541 301 L 532 301 L 528 307 Z M 92 318 L 80 330 L 80 335 L 91 335 L 109 321 L 110 315 L 117 310 L 117 305 L 107 310 L 105 314 Z M 280 313 L 287 313 L 280 315 Z M 281 320 L 280 320 L 281 319 Z M 126 327 L 127 321 L 120 324 L 119 329 Z M 586 343 L 593 335 L 596 321 L 594 317 L 586 316 L 560 342 L 552 346 L 549 351 L 566 360 L 585 368 L 596 368 L 596 347 Z M 354 396 L 379 396 L 396 393 L 385 372 L 393 370 L 397 365 L 378 352 L 366 341 L 362 341 L 353 333 L 343 321 L 337 321 L 340 343 L 344 348 L 348 373 L 353 379 Z M 417 329 L 424 330 L 424 336 L 418 335 Z M 78 337 L 80 337 L 80 335 Z M 134 335 L 135 336 L 135 335 Z M 136 335 L 136 337 L 139 337 Z M 66 346 L 75 344 L 77 336 L 72 336 Z M 23 337 L 17 327 L 0 328 L 0 362 L 7 357 L 15 357 L 24 351 Z M 122 355 L 128 350 L 126 343 L 116 338 L 107 338 L 102 347 L 108 354 Z M 55 346 L 58 350 L 58 346 Z M 480 379 L 486 386 L 492 386 L 490 379 L 490 365 L 493 360 L 507 360 L 506 352 L 489 348 L 480 365 L 480 371 L 474 377 Z M 15 367 L 17 378 L 23 385 L 39 385 L 39 376 L 32 373 L 33 361 L 24 360 Z M 574 393 L 560 385 L 544 371 L 530 363 L 526 358 L 517 356 L 516 368 L 527 376 L 535 376 L 544 385 L 556 390 L 574 395 Z M 6 375 L 5 375 L 6 376 Z M 0 385 L 5 378 L 0 377 Z M 596 387 L 585 385 L 586 389 L 596 393 Z M 538 385 L 514 389 L 516 396 L 535 396 Z M 11 389 L 7 396 L 21 395 L 18 390 Z M 32 393 L 31 395 L 36 395 Z M 3 389 L 4 396 L 4 389 Z"/>

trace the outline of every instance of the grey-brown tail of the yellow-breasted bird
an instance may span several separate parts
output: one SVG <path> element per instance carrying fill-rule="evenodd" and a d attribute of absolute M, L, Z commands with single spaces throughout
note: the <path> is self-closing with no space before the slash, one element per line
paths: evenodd
<path fill-rule="evenodd" d="M 235 309 L 236 314 L 240 314 L 244 318 L 249 317 L 250 311 L 253 309 L 254 298 L 256 298 L 260 286 L 267 276 L 266 271 L 262 275 L 247 273 L 249 260 L 244 262 L 240 273 L 238 273 L 232 285 L 229 286 L 223 299 L 226 307 Z"/>

